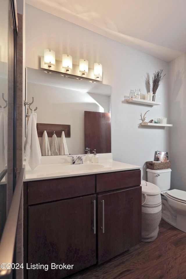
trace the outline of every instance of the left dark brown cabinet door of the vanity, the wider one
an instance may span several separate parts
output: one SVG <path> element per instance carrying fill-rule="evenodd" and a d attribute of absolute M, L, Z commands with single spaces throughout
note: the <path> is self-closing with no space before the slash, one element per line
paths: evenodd
<path fill-rule="evenodd" d="M 28 208 L 28 279 L 61 279 L 96 263 L 95 201 L 90 195 Z"/>

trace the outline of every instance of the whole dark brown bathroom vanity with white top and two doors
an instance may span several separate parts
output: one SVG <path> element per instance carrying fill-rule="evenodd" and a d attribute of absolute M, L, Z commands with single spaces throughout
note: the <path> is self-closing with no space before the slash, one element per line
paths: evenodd
<path fill-rule="evenodd" d="M 89 171 L 85 162 L 85 171 L 26 175 L 25 279 L 61 279 L 141 242 L 140 167 L 98 165 L 104 167 Z"/>

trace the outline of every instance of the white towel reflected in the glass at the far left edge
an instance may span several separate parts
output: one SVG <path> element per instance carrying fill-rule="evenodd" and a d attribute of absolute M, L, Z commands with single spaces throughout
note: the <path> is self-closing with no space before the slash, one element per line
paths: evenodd
<path fill-rule="evenodd" d="M 7 115 L 4 108 L 0 110 L 0 172 L 7 163 Z"/>

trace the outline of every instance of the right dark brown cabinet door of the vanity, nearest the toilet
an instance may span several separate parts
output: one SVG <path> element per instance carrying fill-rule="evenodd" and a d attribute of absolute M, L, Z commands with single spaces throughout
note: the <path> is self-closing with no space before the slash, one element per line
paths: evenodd
<path fill-rule="evenodd" d="M 141 186 L 98 196 L 98 263 L 141 242 Z"/>

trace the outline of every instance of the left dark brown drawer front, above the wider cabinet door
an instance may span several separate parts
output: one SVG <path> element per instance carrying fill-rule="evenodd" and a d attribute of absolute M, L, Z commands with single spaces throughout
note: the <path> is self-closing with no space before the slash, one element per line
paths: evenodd
<path fill-rule="evenodd" d="M 95 176 L 28 182 L 28 205 L 95 193 Z"/>

